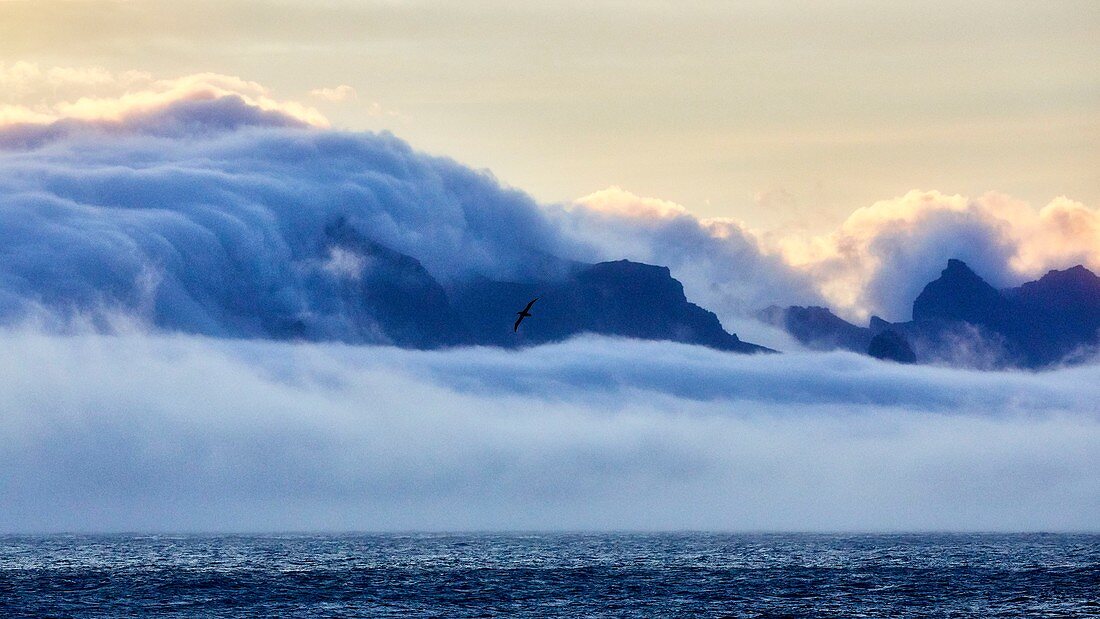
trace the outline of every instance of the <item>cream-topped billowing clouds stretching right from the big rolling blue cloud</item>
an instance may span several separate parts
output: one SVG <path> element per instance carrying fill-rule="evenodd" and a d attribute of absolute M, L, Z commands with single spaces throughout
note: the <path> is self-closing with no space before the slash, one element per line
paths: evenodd
<path fill-rule="evenodd" d="M 770 303 L 827 303 L 854 320 L 909 320 L 913 299 L 949 258 L 999 287 L 1077 264 L 1100 272 L 1100 209 L 1065 197 L 1036 210 L 993 192 L 913 190 L 856 209 L 825 234 L 701 219 L 618 187 L 568 211 L 566 228 L 603 255 L 671 265 L 696 298 L 732 318 Z"/>

